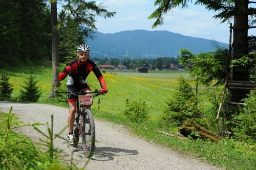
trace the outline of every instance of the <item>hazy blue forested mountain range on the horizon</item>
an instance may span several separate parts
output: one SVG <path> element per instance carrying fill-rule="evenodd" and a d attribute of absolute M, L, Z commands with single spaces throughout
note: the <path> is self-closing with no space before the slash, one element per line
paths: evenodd
<path fill-rule="evenodd" d="M 168 31 L 95 32 L 93 36 L 93 39 L 87 38 L 86 42 L 91 48 L 90 56 L 98 58 L 177 57 L 182 48 L 194 54 L 215 51 L 216 45 L 228 48 L 227 43 Z"/>

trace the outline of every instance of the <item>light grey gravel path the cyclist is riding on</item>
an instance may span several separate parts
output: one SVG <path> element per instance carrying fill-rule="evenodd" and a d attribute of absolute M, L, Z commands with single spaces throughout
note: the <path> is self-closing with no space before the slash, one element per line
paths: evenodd
<path fill-rule="evenodd" d="M 54 115 L 54 134 L 67 125 L 68 109 L 45 104 L 23 104 L 0 102 L 0 110 L 12 112 L 24 123 L 50 123 L 50 115 Z M 40 130 L 46 131 L 45 126 Z M 218 167 L 202 163 L 198 159 L 191 159 L 178 154 L 168 148 L 150 143 L 129 133 L 124 127 L 109 122 L 95 119 L 96 149 L 95 155 L 89 161 L 86 169 L 220 169 Z M 44 139 L 42 135 L 31 127 L 25 127 L 23 132 L 33 140 Z M 61 134 L 67 136 L 68 129 Z M 77 148 L 70 147 L 67 141 L 57 138 L 55 147 L 65 151 L 69 156 L 65 157 L 67 163 L 73 153 L 74 163 L 82 167 L 88 160 L 84 155 L 81 143 Z"/>

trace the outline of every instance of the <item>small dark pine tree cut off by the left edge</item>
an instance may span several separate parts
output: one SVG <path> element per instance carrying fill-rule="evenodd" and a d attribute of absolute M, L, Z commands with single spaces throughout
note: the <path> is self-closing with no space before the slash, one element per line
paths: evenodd
<path fill-rule="evenodd" d="M 10 100 L 13 88 L 9 83 L 9 77 L 4 73 L 3 75 L 1 75 L 0 80 L 1 80 L 0 81 L 0 89 L 1 89 L 0 100 L 1 101 Z"/>

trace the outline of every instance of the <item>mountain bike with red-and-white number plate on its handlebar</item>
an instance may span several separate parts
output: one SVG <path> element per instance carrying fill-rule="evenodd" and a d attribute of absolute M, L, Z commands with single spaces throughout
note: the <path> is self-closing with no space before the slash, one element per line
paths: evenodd
<path fill-rule="evenodd" d="M 75 124 L 73 127 L 74 144 L 77 147 L 79 136 L 82 137 L 82 148 L 87 158 L 91 158 L 95 149 L 95 125 L 94 118 L 91 111 L 93 104 L 93 96 L 104 95 L 99 90 L 95 91 L 61 91 L 61 93 L 68 93 L 77 95 L 77 109 L 75 113 Z M 94 94 L 93 94 L 94 93 Z"/>

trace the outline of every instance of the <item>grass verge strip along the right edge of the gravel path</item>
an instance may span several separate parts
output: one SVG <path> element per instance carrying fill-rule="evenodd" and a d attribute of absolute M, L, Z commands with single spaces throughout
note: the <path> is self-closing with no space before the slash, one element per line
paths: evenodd
<path fill-rule="evenodd" d="M 191 158 L 197 158 L 225 169 L 256 169 L 255 145 L 237 142 L 229 138 L 218 143 L 200 139 L 180 139 L 160 133 L 159 131 L 165 129 L 152 120 L 136 124 L 123 119 L 121 115 L 100 111 L 97 108 L 93 109 L 93 113 L 99 119 L 127 126 L 131 133 L 146 141 L 164 145 Z M 177 130 L 177 127 L 173 127 L 173 131 L 176 131 L 175 129 Z"/>

